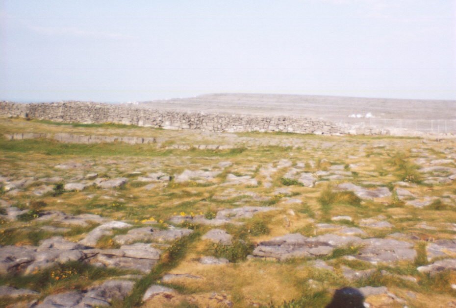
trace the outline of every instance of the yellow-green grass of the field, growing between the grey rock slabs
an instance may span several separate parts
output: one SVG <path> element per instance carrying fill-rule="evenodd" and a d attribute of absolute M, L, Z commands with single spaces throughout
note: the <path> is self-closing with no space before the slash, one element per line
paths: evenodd
<path fill-rule="evenodd" d="M 136 277 L 133 290 L 125 298 L 112 301 L 113 307 L 325 307 L 334 290 L 346 286 L 386 286 L 387 293 L 367 297 L 370 307 L 456 305 L 454 271 L 429 275 L 417 270 L 418 266 L 436 260 L 455 258 L 455 251 L 449 249 L 429 260 L 427 247 L 438 239 L 456 239 L 456 182 L 450 179 L 450 171 L 422 171 L 430 166 L 456 168 L 455 140 L 282 133 L 200 134 L 118 124 L 63 124 L 20 119 L 1 119 L 0 131 L 69 132 L 163 140 L 160 144 L 129 145 L 0 138 L 0 198 L 5 202 L 0 208 L 0 245 L 37 246 L 53 236 L 77 242 L 99 225 L 36 220 L 47 211 L 68 215 L 90 213 L 131 225 L 101 237 L 96 245 L 100 249 L 119 248 L 120 244 L 112 239 L 134 228 L 154 226 L 167 230 L 174 225 L 193 230 L 190 236 L 160 244 L 163 254 L 158 263 L 149 273 Z M 167 148 L 168 144 L 224 144 L 233 148 L 179 150 Z M 287 178 L 287 172 L 293 168 L 312 174 L 314 186 L 304 186 L 299 178 Z M 186 169 L 217 171 L 217 174 L 205 179 L 177 180 Z M 171 178 L 154 182 L 141 179 L 155 172 L 166 173 Z M 96 173 L 95 178 L 122 177 L 127 182 L 115 189 L 100 189 L 90 184 L 93 181 L 87 177 L 90 173 Z M 230 182 L 229 175 L 255 179 L 256 185 Z M 53 177 L 56 180 L 50 182 Z M 26 183 L 13 188 L 8 186 L 21 180 Z M 67 183 L 88 185 L 83 190 L 70 191 L 63 189 L 62 185 Z M 342 183 L 353 183 L 365 190 L 385 188 L 390 195 L 364 198 L 354 191 L 337 189 Z M 38 194 L 37 190 L 43 187 L 49 190 Z M 398 190 L 401 187 L 410 195 L 402 196 Z M 409 203 L 413 200 L 429 202 L 415 207 Z M 217 227 L 172 221 L 176 216 L 198 215 L 210 220 L 220 210 L 245 206 L 277 209 Z M 24 213 L 13 219 L 8 216 L 8 207 Z M 337 216 L 349 216 L 349 219 L 335 221 Z M 368 219 L 388 222 L 390 226 L 370 227 L 364 222 Z M 391 234 L 400 233 L 413 244 L 417 256 L 413 261 L 373 264 L 346 258 L 362 249 L 348 245 L 318 258 L 278 261 L 250 257 L 259 243 L 274 237 L 333 233 L 323 224 L 358 228 L 364 232 L 357 235 L 361 238 L 389 238 Z M 43 228 L 46 226 L 55 229 Z M 213 228 L 230 234 L 231 244 L 201 238 Z M 203 256 L 226 258 L 230 262 L 206 265 L 198 262 Z M 333 269 L 315 267 L 312 262 L 317 259 Z M 352 280 L 344 276 L 345 267 L 373 271 L 369 276 Z M 72 274 L 65 274 L 69 271 Z M 50 294 L 84 290 L 97 282 L 127 274 L 138 272 L 74 261 L 30 274 L 10 271 L 0 275 L 0 285 L 31 289 L 39 295 L 0 297 L 0 307 L 34 299 L 42 301 Z M 162 281 L 166 274 L 188 275 Z M 55 275 L 65 278 L 55 280 Z M 170 287 L 174 293 L 160 294 L 143 302 L 142 297 L 152 284 Z M 435 306 L 436 303 L 440 306 Z"/>

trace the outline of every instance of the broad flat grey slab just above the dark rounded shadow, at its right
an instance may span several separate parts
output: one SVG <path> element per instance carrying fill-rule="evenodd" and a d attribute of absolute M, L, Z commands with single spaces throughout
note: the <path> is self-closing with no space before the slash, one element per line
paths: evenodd
<path fill-rule="evenodd" d="M 355 259 L 378 262 L 413 261 L 416 258 L 416 251 L 413 244 L 405 241 L 386 238 L 367 238 L 360 243 L 362 248 L 354 256 Z"/>

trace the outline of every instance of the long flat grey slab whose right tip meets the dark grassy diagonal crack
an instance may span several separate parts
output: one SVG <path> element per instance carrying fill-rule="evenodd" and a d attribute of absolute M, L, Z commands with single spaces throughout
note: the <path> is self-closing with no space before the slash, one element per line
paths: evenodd
<path fill-rule="evenodd" d="M 132 242 L 146 241 L 173 241 L 181 237 L 188 236 L 193 230 L 190 229 L 168 229 L 160 230 L 151 227 L 136 228 L 129 230 L 125 235 L 114 237 L 114 241 L 119 244 L 128 244 Z"/>

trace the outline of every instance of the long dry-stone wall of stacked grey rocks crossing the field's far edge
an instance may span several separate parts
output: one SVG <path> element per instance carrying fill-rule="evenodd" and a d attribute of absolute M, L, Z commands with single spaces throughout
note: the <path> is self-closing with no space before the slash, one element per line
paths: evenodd
<path fill-rule="evenodd" d="M 199 129 L 209 132 L 258 131 L 325 135 L 351 133 L 349 128 L 329 121 L 302 117 L 189 113 L 91 102 L 30 104 L 0 102 L 0 117 L 27 117 L 69 123 L 123 123 L 164 129 Z M 360 133 L 385 134 L 387 132 L 368 129 Z"/>

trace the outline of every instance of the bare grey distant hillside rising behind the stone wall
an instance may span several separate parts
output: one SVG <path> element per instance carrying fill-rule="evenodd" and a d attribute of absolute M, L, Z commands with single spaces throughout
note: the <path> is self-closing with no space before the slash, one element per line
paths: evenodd
<path fill-rule="evenodd" d="M 320 95 L 207 94 L 140 103 L 143 107 L 261 115 L 299 115 L 350 120 L 349 116 L 393 119 L 456 119 L 456 100 L 362 98 Z"/>

